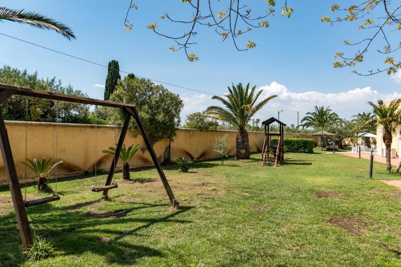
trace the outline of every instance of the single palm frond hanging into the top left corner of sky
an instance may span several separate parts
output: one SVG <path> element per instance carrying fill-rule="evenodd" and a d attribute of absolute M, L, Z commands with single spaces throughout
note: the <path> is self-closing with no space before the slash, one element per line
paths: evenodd
<path fill-rule="evenodd" d="M 23 9 L 14 10 L 6 7 L 0 7 L 0 21 L 2 20 L 10 20 L 21 24 L 28 24 L 32 27 L 40 29 L 55 30 L 70 41 L 71 38 L 76 39 L 71 28 L 39 13 L 26 12 Z"/>

